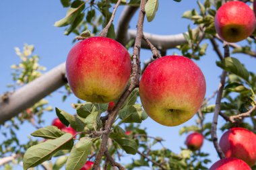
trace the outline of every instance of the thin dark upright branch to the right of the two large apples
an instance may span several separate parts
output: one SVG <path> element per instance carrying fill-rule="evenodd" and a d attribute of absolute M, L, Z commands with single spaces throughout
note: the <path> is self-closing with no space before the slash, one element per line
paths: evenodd
<path fill-rule="evenodd" d="M 230 56 L 229 45 L 226 42 L 224 42 L 224 57 L 226 58 L 229 56 Z M 220 114 L 220 103 L 221 103 L 221 99 L 222 99 L 222 93 L 223 93 L 223 89 L 224 89 L 224 85 L 225 85 L 226 75 L 227 75 L 227 72 L 223 70 L 221 78 L 220 78 L 220 86 L 218 88 L 218 93 L 217 93 L 217 97 L 216 97 L 214 118 L 212 120 L 212 128 L 211 128 L 212 141 L 214 142 L 214 147 L 216 148 L 216 151 L 217 151 L 220 159 L 225 159 L 226 157 L 225 157 L 224 153 L 222 152 L 220 145 L 218 144 L 218 136 L 217 136 L 216 130 L 217 130 L 217 124 L 218 124 L 218 116 Z"/>

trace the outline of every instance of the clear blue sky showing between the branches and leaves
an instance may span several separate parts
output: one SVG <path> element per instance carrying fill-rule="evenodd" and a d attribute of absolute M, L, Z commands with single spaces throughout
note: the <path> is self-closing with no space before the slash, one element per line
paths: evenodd
<path fill-rule="evenodd" d="M 8 91 L 6 85 L 12 83 L 10 66 L 20 62 L 13 50 L 15 46 L 22 48 L 25 43 L 34 44 L 34 54 L 40 56 L 40 65 L 50 70 L 65 61 L 67 53 L 73 46 L 72 40 L 74 35 L 65 36 L 63 34 L 64 28 L 55 28 L 53 26 L 57 20 L 65 16 L 67 10 L 62 7 L 60 1 L 1 0 L 0 7 L 0 15 L 2 16 L 0 24 L 0 93 L 4 93 Z M 190 22 L 187 19 L 182 19 L 181 16 L 184 11 L 192 8 L 197 8 L 196 1 L 183 0 L 181 3 L 175 1 L 160 1 L 156 18 L 150 23 L 145 21 L 144 31 L 154 34 L 179 34 L 185 32 Z M 114 24 L 117 24 L 121 9 L 123 9 L 123 7 L 118 9 Z M 135 29 L 137 22 L 136 17 L 137 13 L 131 21 L 131 29 Z M 191 24 L 191 27 L 194 28 L 195 26 Z M 205 42 L 209 43 L 208 41 Z M 167 54 L 173 54 L 173 52 L 180 54 L 179 50 L 168 50 Z M 141 60 L 146 60 L 150 58 L 151 55 L 150 50 L 141 50 Z M 246 65 L 249 71 L 254 71 L 255 60 L 241 54 L 236 55 L 236 57 Z M 209 44 L 207 54 L 203 56 L 201 60 L 195 61 L 205 75 L 207 83 L 206 96 L 212 95 L 219 85 L 221 69 L 216 67 L 216 60 L 218 60 L 218 56 L 212 50 L 211 44 Z M 48 97 L 48 99 L 53 107 L 74 113 L 70 104 L 77 101 L 77 99 L 72 96 L 63 103 L 61 97 L 62 95 L 60 93 L 55 92 L 51 97 Z M 51 124 L 51 121 L 55 117 L 55 112 L 44 114 L 46 120 L 45 125 L 48 126 Z M 207 121 L 211 121 L 212 114 L 208 114 L 206 119 Z M 219 118 L 219 123 L 223 124 L 224 120 Z M 152 121 L 150 118 L 141 125 L 148 129 L 150 136 L 161 136 L 166 140 L 164 146 L 170 148 L 170 150 L 175 153 L 179 153 L 180 147 L 185 147 L 184 142 L 186 137 L 186 135 L 179 136 L 179 129 L 191 124 L 195 124 L 195 118 L 176 127 L 162 126 Z M 33 131 L 34 128 L 29 124 L 24 124 L 18 132 L 18 137 L 20 140 L 26 141 L 27 136 Z M 220 132 L 218 132 L 219 137 L 220 135 Z M 212 142 L 205 142 L 202 151 L 210 153 L 210 158 L 213 162 L 218 160 Z M 129 161 L 129 159 L 125 159 L 123 162 L 127 163 L 127 161 Z M 21 167 L 16 168 L 22 169 Z"/>

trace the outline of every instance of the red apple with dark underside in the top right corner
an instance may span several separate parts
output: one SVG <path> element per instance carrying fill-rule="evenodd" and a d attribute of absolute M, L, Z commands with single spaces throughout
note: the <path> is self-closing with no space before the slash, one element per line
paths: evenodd
<path fill-rule="evenodd" d="M 255 14 L 245 3 L 229 1 L 216 12 L 215 28 L 226 42 L 244 40 L 255 30 Z"/>

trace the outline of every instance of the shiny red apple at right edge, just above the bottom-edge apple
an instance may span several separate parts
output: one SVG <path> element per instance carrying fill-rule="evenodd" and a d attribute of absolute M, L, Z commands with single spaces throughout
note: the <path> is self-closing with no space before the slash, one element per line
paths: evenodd
<path fill-rule="evenodd" d="M 251 167 L 256 163 L 256 135 L 245 128 L 231 128 L 220 138 L 226 157 L 242 159 Z"/>

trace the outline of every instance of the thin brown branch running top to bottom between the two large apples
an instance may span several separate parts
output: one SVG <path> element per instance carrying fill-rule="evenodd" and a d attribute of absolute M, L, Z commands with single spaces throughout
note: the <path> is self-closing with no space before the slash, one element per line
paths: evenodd
<path fill-rule="evenodd" d="M 142 40 L 142 36 L 143 36 L 143 22 L 144 22 L 144 17 L 145 17 L 145 5 L 146 5 L 146 0 L 141 0 L 139 18 L 137 20 L 137 35 L 136 35 L 136 39 L 135 39 L 135 45 L 133 47 L 133 65 L 132 65 L 131 83 L 130 83 L 129 87 L 127 87 L 127 89 L 125 89 L 125 91 L 119 98 L 119 101 L 117 101 L 113 110 L 111 110 L 110 113 L 108 114 L 106 124 L 104 126 L 105 130 L 112 128 L 112 125 L 115 122 L 115 119 L 117 118 L 117 115 L 118 115 L 119 110 L 121 109 L 123 103 L 125 103 L 127 97 L 129 97 L 131 92 L 136 87 L 139 87 L 139 76 L 141 73 L 139 53 L 140 53 L 140 49 L 141 49 L 141 40 Z M 100 161 L 102 159 L 102 156 L 107 151 L 109 132 L 107 132 L 106 134 L 102 134 L 102 141 L 100 144 L 99 151 L 96 155 L 92 170 L 98 169 L 98 167 L 100 166 Z"/>

